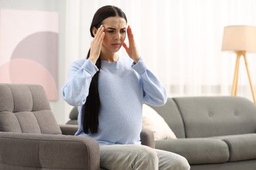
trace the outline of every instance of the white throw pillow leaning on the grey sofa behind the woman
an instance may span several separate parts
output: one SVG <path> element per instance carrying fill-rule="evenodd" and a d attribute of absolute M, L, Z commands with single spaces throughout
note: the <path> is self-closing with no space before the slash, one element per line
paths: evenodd
<path fill-rule="evenodd" d="M 177 139 L 160 114 L 146 104 L 142 105 L 142 128 L 150 129 L 154 133 L 155 140 Z"/>

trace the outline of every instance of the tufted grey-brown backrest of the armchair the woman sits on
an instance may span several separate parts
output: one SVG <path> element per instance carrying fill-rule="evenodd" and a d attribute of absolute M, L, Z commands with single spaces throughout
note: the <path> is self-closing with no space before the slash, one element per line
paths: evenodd
<path fill-rule="evenodd" d="M 0 84 L 0 131 L 62 133 L 45 90 L 37 84 Z"/>

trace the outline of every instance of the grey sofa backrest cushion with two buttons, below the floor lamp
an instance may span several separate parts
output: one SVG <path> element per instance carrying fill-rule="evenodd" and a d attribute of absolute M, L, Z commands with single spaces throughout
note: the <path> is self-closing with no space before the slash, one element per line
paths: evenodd
<path fill-rule="evenodd" d="M 256 105 L 244 97 L 177 97 L 173 100 L 181 112 L 186 137 L 256 132 Z M 169 112 L 172 115 L 171 112 L 173 109 Z"/>

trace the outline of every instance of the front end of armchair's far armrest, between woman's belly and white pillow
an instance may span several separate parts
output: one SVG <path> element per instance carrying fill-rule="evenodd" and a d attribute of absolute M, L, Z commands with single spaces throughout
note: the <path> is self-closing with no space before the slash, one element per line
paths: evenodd
<path fill-rule="evenodd" d="M 142 131 L 140 132 L 140 142 L 143 145 L 155 148 L 154 133 L 149 129 L 142 129 Z"/>

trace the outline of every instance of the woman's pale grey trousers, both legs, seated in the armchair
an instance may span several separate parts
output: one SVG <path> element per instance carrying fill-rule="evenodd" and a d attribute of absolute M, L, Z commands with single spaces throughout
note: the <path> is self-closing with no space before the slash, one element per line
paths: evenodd
<path fill-rule="evenodd" d="M 100 167 L 109 170 L 190 169 L 184 157 L 140 144 L 100 145 Z"/>

